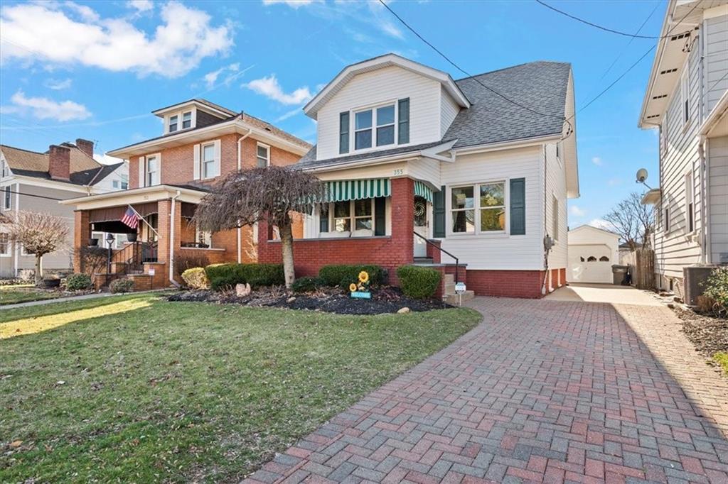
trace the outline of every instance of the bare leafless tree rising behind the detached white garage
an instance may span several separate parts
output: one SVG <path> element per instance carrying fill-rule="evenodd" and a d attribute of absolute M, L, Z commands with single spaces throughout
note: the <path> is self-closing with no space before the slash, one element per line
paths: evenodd
<path fill-rule="evenodd" d="M 632 192 L 604 216 L 610 228 L 628 244 L 630 251 L 636 251 L 640 245 L 650 249 L 652 245 L 654 210 L 652 205 L 644 205 L 641 201 L 641 193 Z"/>

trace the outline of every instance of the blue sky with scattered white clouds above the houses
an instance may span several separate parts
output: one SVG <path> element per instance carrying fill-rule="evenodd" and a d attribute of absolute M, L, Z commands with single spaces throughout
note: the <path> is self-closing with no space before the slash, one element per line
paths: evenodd
<path fill-rule="evenodd" d="M 549 3 L 628 32 L 649 17 L 641 33 L 654 36 L 666 5 Z M 533 60 L 571 62 L 577 109 L 655 42 L 630 43 L 535 1 L 389 6 L 473 74 Z M 371 1 L 6 1 L 0 41 L 0 141 L 31 150 L 84 137 L 103 153 L 158 136 L 162 126 L 149 112 L 189 97 L 245 110 L 314 142 L 315 124 L 301 105 L 349 63 L 396 52 L 464 77 Z M 648 183 L 657 180 L 657 134 L 637 128 L 652 59 L 577 114 L 582 196 L 569 201 L 571 227 L 638 190 L 636 169 L 649 170 Z"/>

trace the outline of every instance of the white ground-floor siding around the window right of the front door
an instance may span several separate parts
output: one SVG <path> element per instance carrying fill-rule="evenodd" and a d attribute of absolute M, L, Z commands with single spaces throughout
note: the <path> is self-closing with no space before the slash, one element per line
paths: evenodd
<path fill-rule="evenodd" d="M 543 165 L 542 148 L 520 148 L 496 153 L 458 156 L 454 164 L 440 166 L 441 183 L 448 187 L 474 182 L 526 179 L 526 235 L 507 232 L 451 235 L 451 219 L 442 248 L 467 262 L 469 270 L 541 270 L 543 267 Z M 507 191 L 507 189 L 506 189 Z M 508 201 L 506 200 L 506 207 Z M 451 209 L 446 195 L 446 213 Z M 506 227 L 508 227 L 506 225 Z M 563 265 L 562 267 L 566 267 Z"/>

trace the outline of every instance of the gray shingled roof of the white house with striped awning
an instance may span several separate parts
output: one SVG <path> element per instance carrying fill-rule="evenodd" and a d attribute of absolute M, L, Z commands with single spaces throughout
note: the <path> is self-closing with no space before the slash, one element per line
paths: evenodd
<path fill-rule="evenodd" d="M 464 148 L 561 133 L 570 72 L 569 63 L 538 61 L 459 79 L 455 84 L 472 105 L 469 109 L 460 110 L 442 140 L 426 145 L 392 148 L 325 160 L 316 160 L 314 146 L 296 165 L 306 169 L 326 164 L 379 158 L 431 148 L 448 140 L 457 140 L 454 148 Z M 540 116 L 503 99 L 478 84 L 476 78 L 505 97 L 548 116 Z"/>

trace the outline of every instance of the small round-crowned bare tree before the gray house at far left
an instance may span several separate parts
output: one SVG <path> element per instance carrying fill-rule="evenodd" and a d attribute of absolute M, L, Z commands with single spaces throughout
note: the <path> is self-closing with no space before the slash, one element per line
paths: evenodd
<path fill-rule="evenodd" d="M 70 233 L 68 223 L 51 214 L 19 211 L 5 225 L 10 240 L 23 244 L 28 254 L 36 256 L 36 286 L 40 286 L 43 282 L 43 256 L 66 248 Z"/>

